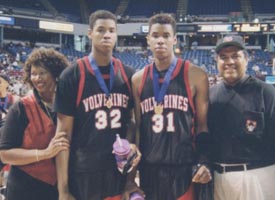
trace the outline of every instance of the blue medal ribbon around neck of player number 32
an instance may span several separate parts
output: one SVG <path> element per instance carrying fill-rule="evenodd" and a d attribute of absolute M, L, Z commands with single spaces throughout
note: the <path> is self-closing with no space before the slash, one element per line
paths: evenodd
<path fill-rule="evenodd" d="M 112 91 L 113 84 L 114 84 L 114 78 L 115 78 L 115 71 L 114 71 L 114 65 L 113 65 L 112 60 L 110 62 L 110 90 L 108 89 L 108 87 L 102 77 L 102 74 L 98 68 L 98 65 L 96 64 L 96 61 L 95 61 L 95 59 L 93 59 L 92 55 L 89 55 L 89 61 L 91 64 L 91 68 L 95 72 L 95 77 L 99 84 L 99 87 L 103 90 L 106 97 L 108 98 L 110 96 L 110 92 Z"/>

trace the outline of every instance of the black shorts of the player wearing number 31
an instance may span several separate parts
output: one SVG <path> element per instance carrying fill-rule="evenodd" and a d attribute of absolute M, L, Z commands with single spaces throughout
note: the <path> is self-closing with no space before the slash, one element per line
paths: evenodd
<path fill-rule="evenodd" d="M 190 191 L 191 183 L 191 166 L 142 164 L 140 167 L 140 186 L 148 200 L 179 199 Z"/>

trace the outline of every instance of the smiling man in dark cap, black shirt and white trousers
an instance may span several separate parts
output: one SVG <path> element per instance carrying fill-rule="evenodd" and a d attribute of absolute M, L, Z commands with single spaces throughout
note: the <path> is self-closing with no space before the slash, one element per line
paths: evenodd
<path fill-rule="evenodd" d="M 246 75 L 240 36 L 220 39 L 216 61 L 223 81 L 210 88 L 215 200 L 275 199 L 275 88 Z"/>

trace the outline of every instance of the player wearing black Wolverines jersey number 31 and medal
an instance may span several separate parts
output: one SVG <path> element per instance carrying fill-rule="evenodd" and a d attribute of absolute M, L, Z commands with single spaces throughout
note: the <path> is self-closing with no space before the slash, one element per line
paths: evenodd
<path fill-rule="evenodd" d="M 147 43 L 154 62 L 132 79 L 142 152 L 140 183 L 149 200 L 193 200 L 193 183 L 211 180 L 192 145 L 208 136 L 208 79 L 199 67 L 175 57 L 175 27 L 169 14 L 150 18 Z"/>

